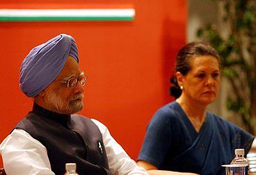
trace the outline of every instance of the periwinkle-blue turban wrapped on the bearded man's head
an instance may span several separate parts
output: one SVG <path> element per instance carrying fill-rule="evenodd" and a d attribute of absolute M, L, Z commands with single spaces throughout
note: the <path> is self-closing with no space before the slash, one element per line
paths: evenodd
<path fill-rule="evenodd" d="M 33 48 L 21 64 L 21 91 L 30 98 L 37 96 L 60 74 L 68 55 L 79 62 L 75 39 L 66 34 Z"/>

